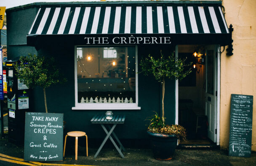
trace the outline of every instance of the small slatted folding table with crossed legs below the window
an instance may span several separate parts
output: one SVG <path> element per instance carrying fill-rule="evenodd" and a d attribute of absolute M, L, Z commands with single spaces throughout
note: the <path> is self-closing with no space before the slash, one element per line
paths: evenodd
<path fill-rule="evenodd" d="M 104 146 L 104 144 L 106 143 L 107 139 L 110 139 L 111 142 L 113 143 L 113 145 L 115 146 L 115 148 L 117 149 L 118 153 L 121 155 L 122 158 L 125 158 L 125 156 L 123 155 L 123 153 L 121 152 L 122 150 L 125 151 L 125 148 L 123 147 L 123 145 L 121 144 L 120 140 L 117 138 L 117 135 L 114 132 L 114 129 L 116 127 L 117 124 L 124 124 L 125 123 L 125 115 L 114 115 L 113 118 L 111 120 L 107 120 L 104 114 L 101 115 L 95 115 L 93 116 L 93 118 L 91 119 L 91 123 L 92 124 L 100 124 L 101 127 L 103 128 L 103 130 L 106 132 L 107 136 L 105 137 L 105 139 L 103 140 L 103 142 L 101 143 L 101 146 L 99 147 L 98 151 L 96 152 L 96 154 L 94 155 L 93 158 L 96 158 L 97 155 L 99 154 L 99 152 L 101 151 L 101 148 Z M 110 124 L 113 124 L 112 127 Z M 109 131 L 106 129 L 106 126 L 108 127 Z M 117 144 L 115 143 L 115 141 L 113 140 L 112 136 L 115 137 L 117 143 L 120 145 L 120 148 L 118 148 Z"/>

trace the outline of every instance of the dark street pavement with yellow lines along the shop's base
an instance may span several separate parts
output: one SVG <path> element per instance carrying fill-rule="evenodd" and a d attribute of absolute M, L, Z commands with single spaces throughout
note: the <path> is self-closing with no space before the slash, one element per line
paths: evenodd
<path fill-rule="evenodd" d="M 78 159 L 75 160 L 75 147 L 66 150 L 63 161 L 29 162 L 23 160 L 24 147 L 8 142 L 8 134 L 0 138 L 0 166 L 255 166 L 256 152 L 251 158 L 228 156 L 227 150 L 219 149 L 176 149 L 170 161 L 158 161 L 153 158 L 151 149 L 130 149 L 123 152 L 121 158 L 117 150 L 102 149 L 97 158 L 93 158 L 96 148 L 89 147 L 89 155 L 85 156 L 85 147 L 78 146 Z"/>

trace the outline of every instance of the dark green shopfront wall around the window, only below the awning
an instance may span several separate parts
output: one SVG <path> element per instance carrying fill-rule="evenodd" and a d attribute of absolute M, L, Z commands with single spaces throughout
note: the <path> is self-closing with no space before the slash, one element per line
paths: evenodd
<path fill-rule="evenodd" d="M 159 55 L 170 53 L 169 47 L 138 47 L 139 61 L 141 57 L 149 54 Z M 75 106 L 75 66 L 74 66 L 74 46 L 73 45 L 44 45 L 38 50 L 38 55 L 53 56 L 56 65 L 67 78 L 65 84 L 58 84 L 46 89 L 48 111 L 54 113 L 64 113 L 64 120 L 67 121 L 67 131 L 85 131 L 91 138 L 102 138 L 104 134 L 97 124 L 91 124 L 90 120 L 96 113 L 105 111 L 72 110 Z M 139 67 L 140 70 L 140 67 Z M 121 132 L 120 138 L 147 138 L 146 129 L 149 121 L 145 121 L 148 116 L 160 113 L 161 110 L 161 87 L 152 76 L 139 74 L 139 106 L 141 110 L 116 110 L 113 113 L 126 115 L 125 124 L 117 126 L 115 131 Z M 37 112 L 45 112 L 43 90 L 34 90 L 33 109 Z M 175 123 L 175 81 L 166 81 L 165 91 L 165 117 L 167 124 Z M 119 131 L 118 131 L 119 130 Z M 100 133 L 100 135 L 99 135 Z"/>

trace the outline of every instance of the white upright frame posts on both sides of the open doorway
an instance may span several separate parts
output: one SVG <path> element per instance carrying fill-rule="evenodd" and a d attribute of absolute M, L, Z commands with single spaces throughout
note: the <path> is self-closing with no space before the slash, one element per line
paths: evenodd
<path fill-rule="evenodd" d="M 217 60 L 217 142 L 216 144 L 219 145 L 220 143 L 220 78 L 221 78 L 221 53 L 219 51 L 219 45 L 216 45 L 216 51 L 218 56 Z M 178 45 L 175 47 L 175 57 L 178 58 Z M 176 80 L 175 84 L 175 124 L 179 124 L 179 81 Z"/>

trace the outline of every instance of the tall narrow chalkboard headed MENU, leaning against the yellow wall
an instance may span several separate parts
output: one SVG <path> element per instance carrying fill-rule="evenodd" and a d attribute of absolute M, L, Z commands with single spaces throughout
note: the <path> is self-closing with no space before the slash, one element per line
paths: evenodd
<path fill-rule="evenodd" d="M 229 155 L 251 157 L 253 96 L 231 95 Z"/>

